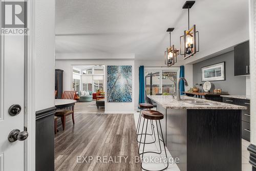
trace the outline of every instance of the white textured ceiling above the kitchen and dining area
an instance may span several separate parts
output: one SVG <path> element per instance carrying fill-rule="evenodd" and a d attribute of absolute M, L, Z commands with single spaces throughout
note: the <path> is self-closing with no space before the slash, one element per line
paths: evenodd
<path fill-rule="evenodd" d="M 56 53 L 134 53 L 136 59 L 162 59 L 169 45 L 166 29 L 175 27 L 172 43 L 179 49 L 180 35 L 188 27 L 184 3 L 56 0 Z M 197 0 L 190 24 L 199 30 L 202 55 L 228 48 L 249 37 L 248 1 Z"/>

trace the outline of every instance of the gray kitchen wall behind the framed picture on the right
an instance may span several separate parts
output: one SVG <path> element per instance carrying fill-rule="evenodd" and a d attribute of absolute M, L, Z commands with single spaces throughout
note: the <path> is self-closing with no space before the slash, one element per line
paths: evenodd
<path fill-rule="evenodd" d="M 226 80 L 210 81 L 216 89 L 222 89 L 230 95 L 245 95 L 246 94 L 246 77 L 234 76 L 234 51 L 195 63 L 193 65 L 193 84 L 204 83 L 201 81 L 201 68 L 209 65 L 214 65 L 219 62 L 226 62 Z M 189 85 L 190 86 L 190 85 Z M 202 87 L 200 87 L 202 91 Z"/>

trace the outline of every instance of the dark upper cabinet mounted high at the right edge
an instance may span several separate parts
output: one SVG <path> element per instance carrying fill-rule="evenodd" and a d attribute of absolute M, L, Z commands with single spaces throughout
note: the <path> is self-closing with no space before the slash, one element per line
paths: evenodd
<path fill-rule="evenodd" d="M 234 47 L 234 75 L 250 74 L 249 41 Z"/>

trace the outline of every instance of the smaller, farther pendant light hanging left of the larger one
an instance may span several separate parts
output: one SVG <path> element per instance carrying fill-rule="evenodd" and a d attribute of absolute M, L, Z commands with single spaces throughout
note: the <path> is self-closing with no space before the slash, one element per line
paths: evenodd
<path fill-rule="evenodd" d="M 168 28 L 166 32 L 172 32 L 174 31 L 174 28 Z M 166 49 L 164 52 L 164 63 L 167 65 L 167 67 L 173 66 L 174 63 L 177 62 L 177 55 L 179 55 L 179 50 L 174 48 L 174 45 L 171 45 L 171 37 L 170 37 L 170 46 Z"/>

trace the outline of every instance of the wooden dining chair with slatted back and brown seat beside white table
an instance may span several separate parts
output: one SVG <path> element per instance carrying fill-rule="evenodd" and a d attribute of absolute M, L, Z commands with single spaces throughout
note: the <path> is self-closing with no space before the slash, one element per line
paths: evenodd
<path fill-rule="evenodd" d="M 61 99 L 75 99 L 76 91 L 64 91 Z M 75 124 L 74 118 L 74 106 L 70 106 L 68 108 L 59 109 L 56 111 L 55 116 L 61 118 L 62 129 L 65 130 L 66 126 L 66 116 L 72 115 L 73 124 Z"/>

